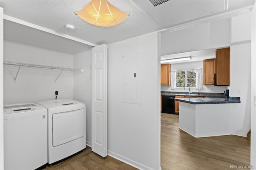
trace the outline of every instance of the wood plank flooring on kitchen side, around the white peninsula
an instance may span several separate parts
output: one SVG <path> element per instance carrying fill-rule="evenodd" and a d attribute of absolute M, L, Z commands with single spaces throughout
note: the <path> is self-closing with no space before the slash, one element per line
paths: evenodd
<path fill-rule="evenodd" d="M 178 115 L 161 114 L 162 170 L 230 170 L 250 165 L 250 141 L 235 135 L 194 138 L 178 128 Z"/>

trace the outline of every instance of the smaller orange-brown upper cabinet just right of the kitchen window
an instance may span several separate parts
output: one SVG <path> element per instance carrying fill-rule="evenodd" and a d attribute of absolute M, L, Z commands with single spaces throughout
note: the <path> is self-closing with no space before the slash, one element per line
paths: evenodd
<path fill-rule="evenodd" d="M 214 85 L 215 58 L 204 60 L 204 85 Z"/>

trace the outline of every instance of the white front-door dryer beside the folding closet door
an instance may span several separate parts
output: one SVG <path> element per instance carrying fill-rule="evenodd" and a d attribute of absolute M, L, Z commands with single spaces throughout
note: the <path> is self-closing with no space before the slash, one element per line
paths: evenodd
<path fill-rule="evenodd" d="M 86 148 L 85 104 L 76 100 L 38 102 L 48 109 L 48 164 Z"/>

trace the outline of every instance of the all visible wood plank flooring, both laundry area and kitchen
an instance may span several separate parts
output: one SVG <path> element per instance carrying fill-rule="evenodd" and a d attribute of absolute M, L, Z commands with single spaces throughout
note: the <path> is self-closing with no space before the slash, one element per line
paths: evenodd
<path fill-rule="evenodd" d="M 178 115 L 161 114 L 162 170 L 230 170 L 230 165 L 250 165 L 250 141 L 228 135 L 194 138 L 178 128 Z M 90 147 L 44 170 L 135 170 L 110 156 L 102 158 Z"/>

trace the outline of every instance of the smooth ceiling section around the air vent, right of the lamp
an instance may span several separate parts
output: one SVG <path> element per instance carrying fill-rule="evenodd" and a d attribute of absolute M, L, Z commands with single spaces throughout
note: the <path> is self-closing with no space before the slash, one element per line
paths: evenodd
<path fill-rule="evenodd" d="M 225 0 L 172 0 L 156 7 L 146 0 L 135 0 L 135 2 L 142 9 L 147 9 L 145 12 L 162 28 L 225 10 Z"/>

